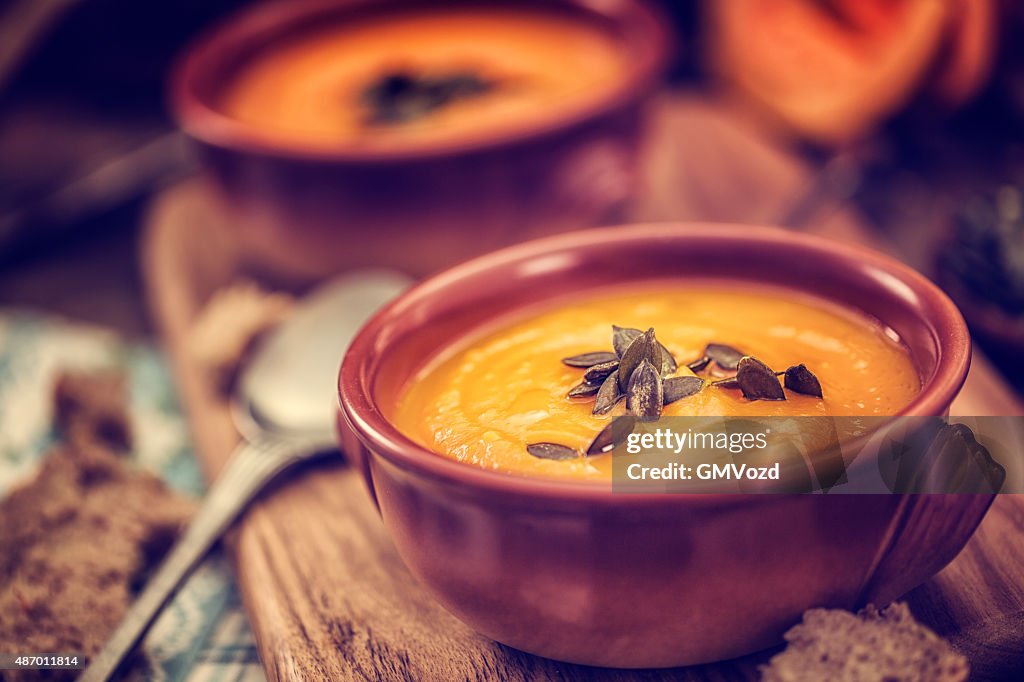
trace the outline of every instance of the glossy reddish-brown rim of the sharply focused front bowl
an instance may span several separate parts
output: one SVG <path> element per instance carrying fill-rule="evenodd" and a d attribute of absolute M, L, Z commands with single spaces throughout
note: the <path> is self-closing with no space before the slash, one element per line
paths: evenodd
<path fill-rule="evenodd" d="M 923 378 L 922 390 L 891 419 L 907 416 L 944 414 L 959 392 L 971 365 L 971 336 L 956 305 L 934 283 L 902 262 L 864 246 L 839 242 L 823 237 L 794 232 L 778 227 L 714 222 L 662 222 L 626 224 L 578 230 L 523 242 L 479 256 L 434 274 L 413 286 L 379 310 L 359 330 L 342 360 L 338 373 L 338 409 L 356 437 L 367 450 L 393 465 L 457 485 L 469 485 L 499 494 L 517 494 L 546 500 L 571 500 L 642 505 L 655 500 L 685 500 L 687 505 L 751 503 L 769 499 L 772 495 L 736 494 L 614 494 L 603 481 L 575 481 L 522 476 L 482 469 L 457 462 L 432 452 L 404 435 L 385 418 L 373 396 L 369 369 L 376 356 L 374 342 L 381 328 L 409 301 L 437 295 L 460 280 L 480 274 L 488 269 L 523 262 L 531 257 L 566 249 L 588 249 L 598 246 L 658 240 L 743 241 L 765 246 L 801 248 L 820 254 L 838 256 L 848 263 L 872 266 L 872 269 L 895 278 L 915 296 L 920 306 L 934 307 L 933 317 L 925 319 L 938 349 L 936 367 L 931 377 Z M 925 301 L 928 301 L 927 303 Z M 864 310 L 867 314 L 870 311 Z M 885 324 L 885 321 L 882 321 Z M 957 352 L 958 351 L 958 352 Z M 373 455 L 371 456 L 373 457 Z"/>

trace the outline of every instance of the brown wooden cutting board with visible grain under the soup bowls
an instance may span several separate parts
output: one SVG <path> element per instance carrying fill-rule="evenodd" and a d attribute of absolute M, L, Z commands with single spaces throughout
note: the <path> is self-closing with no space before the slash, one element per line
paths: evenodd
<path fill-rule="evenodd" d="M 646 219 L 770 221 L 809 178 L 798 161 L 703 102 L 662 106 L 654 130 L 664 143 L 651 146 L 648 184 L 635 209 Z M 709 184 L 716 176 L 721 179 Z M 725 186 L 734 194 L 723 193 Z M 842 207 L 823 207 L 815 224 L 839 238 L 865 240 L 856 217 Z M 152 208 L 146 230 L 142 269 L 152 309 L 198 455 L 212 478 L 238 434 L 210 378 L 190 361 L 184 339 L 210 295 L 242 273 L 238 249 L 201 180 L 165 193 Z M 953 412 L 1024 414 L 983 357 L 975 359 Z M 757 666 L 772 653 L 686 669 L 617 671 L 497 644 L 417 585 L 361 480 L 341 458 L 275 483 L 228 545 L 272 680 L 756 679 Z M 977 679 L 1024 671 L 1024 496 L 1000 497 L 967 549 L 907 601 L 922 622 L 970 658 Z"/>

